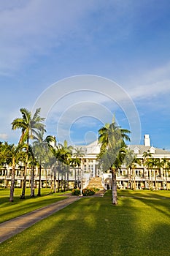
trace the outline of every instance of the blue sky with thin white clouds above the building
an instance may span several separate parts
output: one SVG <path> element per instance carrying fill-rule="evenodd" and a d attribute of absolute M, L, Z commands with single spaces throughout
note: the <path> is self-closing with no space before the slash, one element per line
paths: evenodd
<path fill-rule="evenodd" d="M 134 102 L 140 143 L 149 134 L 153 146 L 170 149 L 169 11 L 169 0 L 1 1 L 0 140 L 18 142 L 12 120 L 20 108 L 33 109 L 51 85 L 56 102 L 48 111 L 47 134 L 89 143 L 113 113 L 121 127 L 131 129 L 134 114 L 127 115 L 128 105 L 122 109 L 124 98 L 117 104 L 101 87 L 75 93 L 72 83 L 66 95 L 57 83 L 94 75 L 115 81 Z"/>

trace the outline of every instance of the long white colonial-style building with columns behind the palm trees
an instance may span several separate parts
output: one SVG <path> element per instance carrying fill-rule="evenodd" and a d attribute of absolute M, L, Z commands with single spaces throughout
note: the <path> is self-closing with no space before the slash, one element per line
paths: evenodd
<path fill-rule="evenodd" d="M 72 189 L 77 186 L 77 183 L 82 182 L 82 188 L 88 186 L 89 181 L 93 178 L 101 180 L 101 185 L 104 189 L 109 189 L 112 186 L 111 173 L 103 173 L 98 164 L 97 155 L 100 152 L 98 141 L 94 141 L 87 146 L 78 146 L 82 148 L 84 157 L 82 158 L 80 167 L 70 167 L 69 172 L 62 173 L 55 167 L 42 169 L 42 187 L 50 187 L 53 183 L 54 176 L 56 184 L 64 184 L 67 188 Z M 136 154 L 136 158 L 140 159 L 140 165 L 135 165 L 133 169 L 122 166 L 117 170 L 117 187 L 120 189 L 170 189 L 170 151 L 161 148 L 155 148 L 150 145 L 149 135 L 144 135 L 144 145 L 131 145 L 131 150 Z M 166 165 L 149 167 L 144 165 L 144 152 L 150 152 L 153 159 L 166 159 Z M 0 170 L 0 184 L 3 187 L 10 185 L 11 167 L 6 166 Z M 23 181 L 23 169 L 16 168 L 15 172 L 16 186 L 20 187 Z M 58 182 L 60 181 L 60 182 Z M 39 170 L 35 170 L 35 186 L 39 182 Z M 28 168 L 27 187 L 31 184 L 31 168 Z M 67 184 L 67 185 L 66 185 Z M 63 185 L 62 185 L 63 186 Z"/>

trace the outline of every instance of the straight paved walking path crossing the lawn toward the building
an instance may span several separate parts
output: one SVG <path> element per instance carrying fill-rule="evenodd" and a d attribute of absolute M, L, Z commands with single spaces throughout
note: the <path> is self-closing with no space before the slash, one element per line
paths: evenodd
<path fill-rule="evenodd" d="M 0 224 L 0 244 L 5 240 L 11 238 L 12 236 L 25 230 L 27 227 L 34 225 L 36 222 L 39 222 L 40 220 L 45 219 L 51 214 L 54 214 L 56 211 L 59 211 L 66 206 L 69 206 L 69 204 L 74 203 L 80 198 L 81 197 L 70 196 L 66 199 L 53 203 L 49 206 L 39 208 L 35 211 L 31 211 L 28 214 L 24 214 L 15 219 L 10 219 L 7 222 L 1 223 Z"/>

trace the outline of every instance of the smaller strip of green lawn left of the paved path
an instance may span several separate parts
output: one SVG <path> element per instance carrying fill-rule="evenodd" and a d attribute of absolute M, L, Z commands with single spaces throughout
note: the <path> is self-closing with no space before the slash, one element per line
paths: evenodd
<path fill-rule="evenodd" d="M 42 196 L 34 198 L 30 198 L 30 189 L 26 189 L 26 200 L 21 200 L 20 194 L 21 189 L 15 189 L 14 202 L 9 203 L 9 189 L 0 189 L 0 223 L 66 198 L 61 197 L 66 193 L 50 194 L 50 189 L 42 189 Z"/>

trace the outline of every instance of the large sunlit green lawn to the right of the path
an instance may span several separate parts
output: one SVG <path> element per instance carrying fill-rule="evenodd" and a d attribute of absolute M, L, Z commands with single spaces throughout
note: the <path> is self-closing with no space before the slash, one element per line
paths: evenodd
<path fill-rule="evenodd" d="M 170 192 L 83 197 L 0 245 L 1 255 L 170 255 Z"/>

